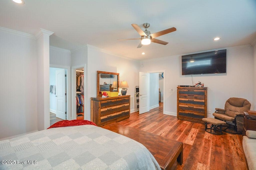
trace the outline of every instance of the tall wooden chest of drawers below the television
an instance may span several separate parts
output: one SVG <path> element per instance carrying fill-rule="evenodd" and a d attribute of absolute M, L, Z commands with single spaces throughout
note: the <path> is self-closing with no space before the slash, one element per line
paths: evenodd
<path fill-rule="evenodd" d="M 177 87 L 177 118 L 205 123 L 207 117 L 207 87 Z"/>

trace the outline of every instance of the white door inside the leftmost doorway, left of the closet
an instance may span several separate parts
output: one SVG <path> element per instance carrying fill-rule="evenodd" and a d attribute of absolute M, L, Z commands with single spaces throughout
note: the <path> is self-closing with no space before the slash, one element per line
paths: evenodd
<path fill-rule="evenodd" d="M 56 70 L 56 117 L 66 120 L 66 77 L 65 69 Z"/>

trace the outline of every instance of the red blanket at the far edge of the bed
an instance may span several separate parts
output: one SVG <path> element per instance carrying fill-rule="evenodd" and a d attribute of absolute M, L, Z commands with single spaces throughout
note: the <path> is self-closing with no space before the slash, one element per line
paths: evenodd
<path fill-rule="evenodd" d="M 92 121 L 88 120 L 62 120 L 54 123 L 47 129 L 53 128 L 53 127 L 66 127 L 66 126 L 78 126 L 78 125 L 95 125 Z"/>

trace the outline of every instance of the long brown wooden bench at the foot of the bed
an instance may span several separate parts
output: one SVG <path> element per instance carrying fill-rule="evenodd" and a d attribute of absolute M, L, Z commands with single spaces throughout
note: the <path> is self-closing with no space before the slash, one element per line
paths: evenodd
<path fill-rule="evenodd" d="M 154 156 L 162 170 L 169 170 L 177 160 L 183 163 L 183 143 L 154 135 L 146 131 L 113 123 L 102 126 L 104 129 L 129 137 L 144 145 Z"/>

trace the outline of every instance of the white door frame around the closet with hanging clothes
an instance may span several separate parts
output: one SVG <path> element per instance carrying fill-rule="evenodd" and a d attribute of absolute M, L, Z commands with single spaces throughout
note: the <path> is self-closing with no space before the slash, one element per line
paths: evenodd
<path fill-rule="evenodd" d="M 76 69 L 77 68 L 84 68 L 84 120 L 86 120 L 86 102 L 87 102 L 87 92 L 86 92 L 86 64 L 80 64 L 77 66 L 72 66 L 71 67 L 71 74 L 72 74 L 72 116 L 71 119 L 74 120 L 76 119 Z"/>

